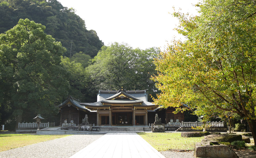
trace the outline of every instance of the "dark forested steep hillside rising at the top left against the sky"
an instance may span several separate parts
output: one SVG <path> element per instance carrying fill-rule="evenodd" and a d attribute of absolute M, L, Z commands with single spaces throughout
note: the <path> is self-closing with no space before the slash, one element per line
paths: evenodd
<path fill-rule="evenodd" d="M 71 43 L 71 55 L 81 51 L 91 57 L 103 46 L 97 33 L 86 29 L 75 10 L 63 7 L 57 0 L 0 0 L 0 33 L 26 18 L 46 26 L 44 32 L 67 49 L 63 56 L 70 57 Z"/>

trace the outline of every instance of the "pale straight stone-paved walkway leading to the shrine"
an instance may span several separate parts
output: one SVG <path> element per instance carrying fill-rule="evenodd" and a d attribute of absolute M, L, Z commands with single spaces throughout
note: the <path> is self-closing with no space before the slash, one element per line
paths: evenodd
<path fill-rule="evenodd" d="M 134 132 L 107 133 L 70 158 L 164 158 Z"/>

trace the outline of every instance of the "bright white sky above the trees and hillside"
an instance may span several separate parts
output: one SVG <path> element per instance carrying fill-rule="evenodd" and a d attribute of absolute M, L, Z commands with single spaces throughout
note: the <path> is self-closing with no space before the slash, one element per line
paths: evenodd
<path fill-rule="evenodd" d="M 196 15 L 198 0 L 58 0 L 64 7 L 74 8 L 88 30 L 97 32 L 100 40 L 128 43 L 133 48 L 160 47 L 174 36 L 178 20 L 172 17 L 173 8 Z"/>

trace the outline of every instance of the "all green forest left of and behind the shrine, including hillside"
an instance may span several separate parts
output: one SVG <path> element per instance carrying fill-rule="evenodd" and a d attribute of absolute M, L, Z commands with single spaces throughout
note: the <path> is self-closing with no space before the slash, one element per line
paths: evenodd
<path fill-rule="evenodd" d="M 158 48 L 104 46 L 56 0 L 0 0 L 0 18 L 0 124 L 7 129 L 37 114 L 58 124 L 57 106 L 68 95 L 95 102 L 97 90 L 124 87 L 156 96 L 150 77 Z"/>

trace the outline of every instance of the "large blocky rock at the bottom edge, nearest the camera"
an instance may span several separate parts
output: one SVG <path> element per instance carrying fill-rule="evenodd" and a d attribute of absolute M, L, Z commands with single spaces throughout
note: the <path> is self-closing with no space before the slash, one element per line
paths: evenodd
<path fill-rule="evenodd" d="M 222 158 L 238 158 L 236 153 L 228 146 L 214 145 L 214 146 L 196 146 L 194 157 L 222 157 Z"/>

